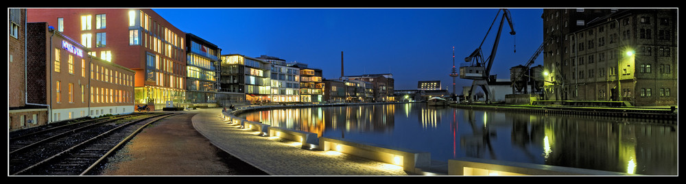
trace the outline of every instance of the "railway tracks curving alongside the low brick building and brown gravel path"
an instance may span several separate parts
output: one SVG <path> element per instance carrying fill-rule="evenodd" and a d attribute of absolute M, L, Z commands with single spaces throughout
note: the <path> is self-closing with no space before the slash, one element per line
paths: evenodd
<path fill-rule="evenodd" d="M 16 146 L 19 148 L 15 148 L 10 153 L 9 173 L 12 175 L 88 174 L 147 124 L 174 115 L 177 114 L 122 116 L 112 120 L 100 120 L 97 123 L 89 122 L 87 126 L 62 127 L 59 130 L 62 133 L 58 135 L 47 132 L 24 135 L 22 139 L 31 141 L 28 141 L 27 146 Z M 18 142 L 14 143 L 19 144 Z M 12 143 L 10 142 L 10 147 Z"/>

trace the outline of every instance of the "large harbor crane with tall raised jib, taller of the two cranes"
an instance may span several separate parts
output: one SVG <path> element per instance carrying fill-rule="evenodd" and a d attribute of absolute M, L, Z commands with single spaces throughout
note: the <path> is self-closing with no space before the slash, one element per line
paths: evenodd
<path fill-rule="evenodd" d="M 488 33 L 490 32 L 490 29 L 493 28 L 493 25 L 495 24 L 495 21 L 497 21 L 498 16 L 500 12 L 503 12 L 502 19 L 500 20 L 500 26 L 498 27 L 498 32 L 495 35 L 495 43 L 493 44 L 493 50 L 490 52 L 490 55 L 486 60 L 484 60 L 484 56 L 482 55 L 482 45 L 484 44 L 484 41 L 486 41 L 486 38 L 488 38 Z M 498 13 L 495 16 L 495 19 L 493 19 L 493 23 L 490 24 L 490 27 L 488 28 L 488 31 L 486 31 L 486 36 L 484 37 L 484 40 L 482 40 L 481 44 L 479 47 L 469 55 L 469 57 L 464 58 L 464 62 L 471 62 L 471 66 L 461 66 L 460 67 L 460 78 L 461 79 L 472 79 L 474 80 L 472 82 L 471 90 L 469 90 L 467 96 L 471 96 L 471 94 L 474 92 L 474 87 L 475 86 L 480 86 L 482 90 L 484 90 L 484 94 L 486 94 L 486 101 L 490 102 L 493 101 L 493 96 L 490 94 L 490 90 L 488 90 L 488 82 L 489 81 L 495 81 L 495 75 L 491 76 L 490 75 L 490 68 L 493 66 L 493 60 L 495 60 L 495 53 L 497 52 L 498 49 L 498 42 L 500 40 L 500 33 L 503 29 L 503 24 L 504 21 L 508 21 L 508 24 L 510 25 L 510 35 L 514 35 L 514 26 L 512 25 L 512 18 L 510 18 L 510 10 L 507 9 L 501 9 L 498 10 Z M 516 47 L 516 45 L 515 45 Z M 517 52 L 517 50 L 514 50 Z"/>

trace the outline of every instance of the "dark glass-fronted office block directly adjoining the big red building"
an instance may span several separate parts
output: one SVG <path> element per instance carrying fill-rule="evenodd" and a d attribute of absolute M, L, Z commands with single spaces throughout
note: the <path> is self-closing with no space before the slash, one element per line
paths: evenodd
<path fill-rule="evenodd" d="M 186 98 L 183 105 L 217 105 L 222 49 L 196 35 L 186 34 Z"/>

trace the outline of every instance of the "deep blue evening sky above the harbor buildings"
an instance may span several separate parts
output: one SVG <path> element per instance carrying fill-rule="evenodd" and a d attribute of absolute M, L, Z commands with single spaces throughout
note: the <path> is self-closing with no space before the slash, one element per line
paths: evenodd
<path fill-rule="evenodd" d="M 453 47 L 459 68 L 484 39 L 495 8 L 161 8 L 169 23 L 216 44 L 222 54 L 270 55 L 323 70 L 324 78 L 392 73 L 395 90 L 414 90 L 417 81 L 440 80 L 452 92 Z M 491 75 L 510 78 L 543 41 L 542 9 L 509 9 L 515 36 L 505 23 Z M 482 46 L 490 55 L 501 14 Z M 516 53 L 514 50 L 516 49 Z M 543 64 L 539 56 L 532 66 Z M 456 79 L 456 90 L 471 80 Z"/>

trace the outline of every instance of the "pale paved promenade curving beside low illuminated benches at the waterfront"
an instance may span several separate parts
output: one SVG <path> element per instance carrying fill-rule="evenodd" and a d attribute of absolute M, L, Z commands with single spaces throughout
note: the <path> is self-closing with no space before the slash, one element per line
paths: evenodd
<path fill-rule="evenodd" d="M 300 145 L 272 140 L 238 129 L 221 119 L 222 109 L 196 109 L 193 127 L 218 148 L 270 175 L 400 176 L 399 166 L 332 151 L 305 150 Z"/>

